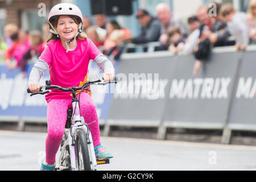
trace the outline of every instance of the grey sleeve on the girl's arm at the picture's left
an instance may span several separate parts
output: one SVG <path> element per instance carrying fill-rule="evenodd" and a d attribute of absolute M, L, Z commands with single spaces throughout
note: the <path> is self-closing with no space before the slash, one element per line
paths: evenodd
<path fill-rule="evenodd" d="M 38 59 L 31 70 L 30 78 L 28 79 L 28 85 L 38 83 L 48 68 L 49 67 L 46 61 Z"/>

